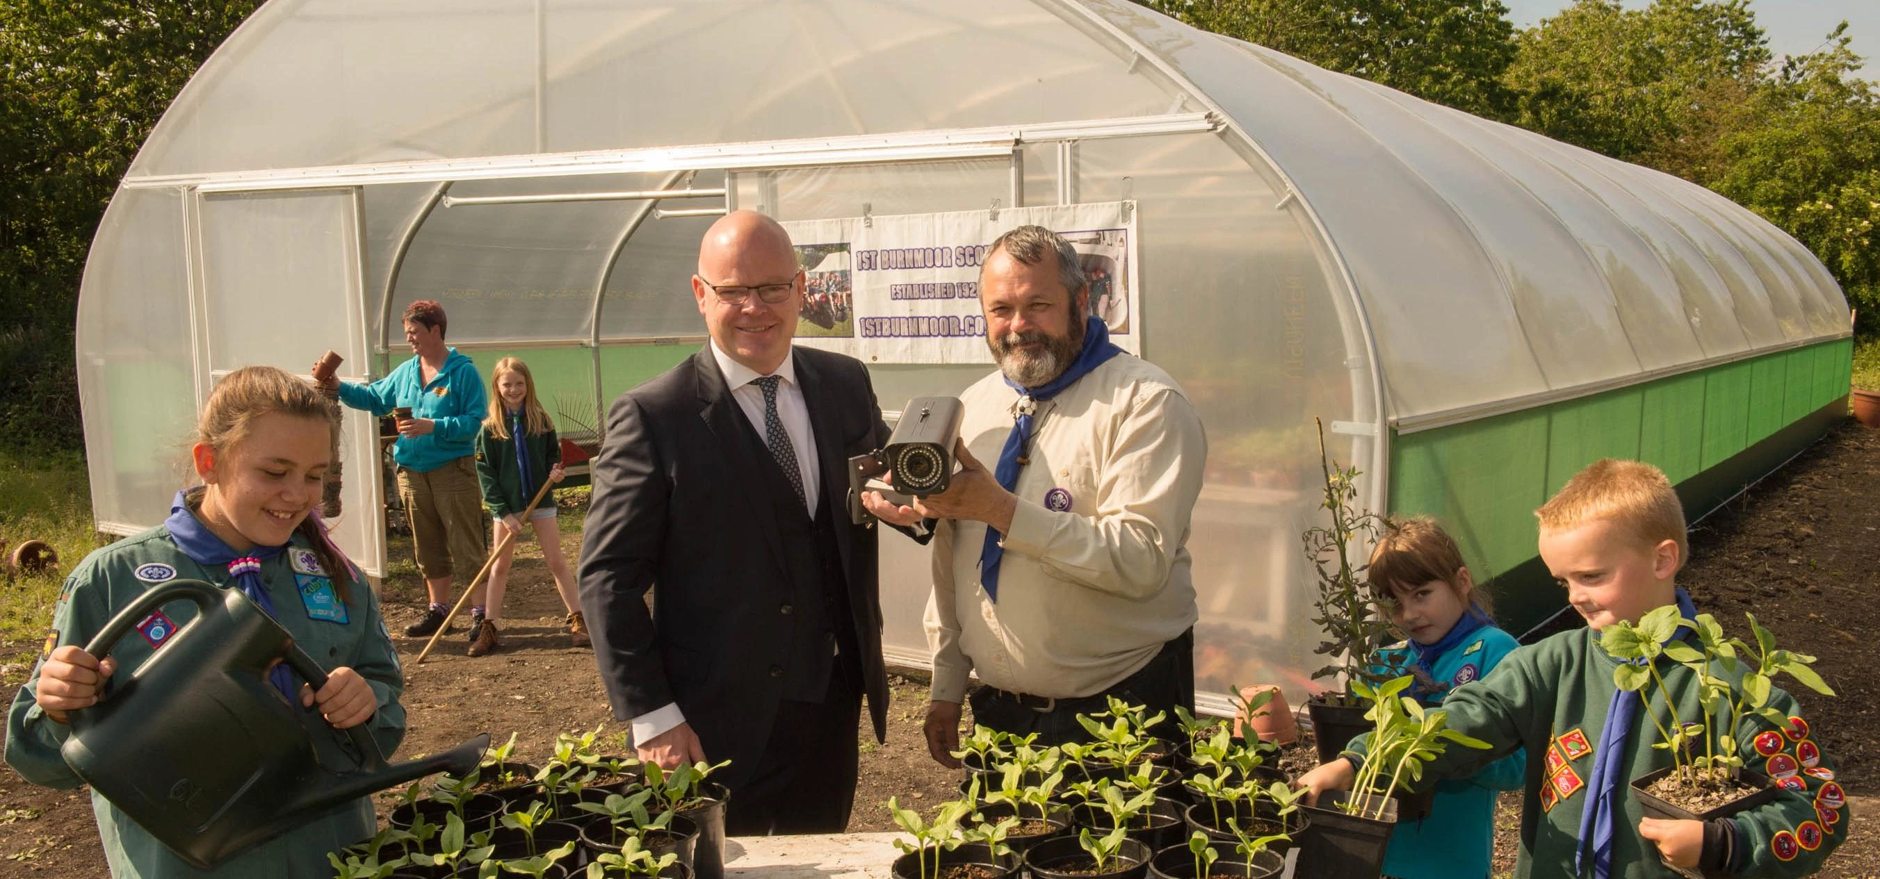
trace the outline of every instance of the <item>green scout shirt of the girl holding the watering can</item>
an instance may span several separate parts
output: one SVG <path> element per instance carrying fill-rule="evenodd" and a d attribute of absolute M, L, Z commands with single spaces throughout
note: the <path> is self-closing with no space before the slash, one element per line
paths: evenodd
<path fill-rule="evenodd" d="M 346 622 L 314 620 L 301 601 L 295 573 L 320 577 L 318 560 L 306 550 L 306 541 L 295 533 L 293 548 L 274 556 L 261 565 L 261 582 L 267 584 L 269 597 L 274 599 L 280 625 L 295 642 L 325 669 L 352 667 L 359 672 L 372 693 L 378 695 L 378 714 L 367 727 L 378 740 L 380 751 L 387 757 L 404 738 L 404 708 L 399 706 L 399 693 L 404 691 L 404 672 L 399 669 L 399 655 L 380 616 L 378 597 L 365 582 L 352 582 L 348 592 Z M 346 577 L 342 571 L 335 571 Z M 66 578 L 58 605 L 53 609 L 53 633 L 47 639 L 47 654 L 55 646 L 90 642 L 92 635 L 103 629 L 105 622 L 118 609 L 135 601 L 145 590 L 173 578 L 205 580 L 222 588 L 235 588 L 227 567 L 209 569 L 197 565 L 171 541 L 164 526 L 126 537 L 111 547 L 100 548 L 85 558 L 71 577 Z M 175 627 L 188 625 L 196 618 L 196 605 L 177 601 L 164 605 L 164 618 Z M 143 635 L 143 637 L 139 637 Z M 132 674 L 156 650 L 152 635 L 162 635 L 156 627 L 139 627 L 126 635 L 113 648 L 118 669 L 113 680 Z M 39 663 L 45 663 L 41 655 Z M 66 742 L 71 727 L 53 721 L 36 702 L 39 669 L 19 689 L 13 708 L 8 712 L 6 763 L 26 781 L 56 789 L 81 785 L 79 776 L 66 766 L 58 748 Z M 314 721 L 320 723 L 318 719 Z M 353 761 L 338 748 L 337 736 L 321 734 L 314 729 L 314 744 L 320 761 L 327 766 L 352 766 Z M 205 742 L 214 748 L 214 742 Z M 111 802 L 92 793 L 92 811 L 98 815 L 98 836 L 103 841 L 111 875 L 139 879 L 169 877 L 284 877 L 284 879 L 327 879 L 333 875 L 327 853 L 372 836 L 376 819 L 372 800 L 361 796 L 346 806 L 321 815 L 301 828 L 261 843 L 212 873 L 190 868 L 158 843 L 149 832 L 130 821 Z"/>

